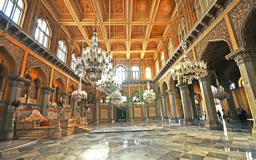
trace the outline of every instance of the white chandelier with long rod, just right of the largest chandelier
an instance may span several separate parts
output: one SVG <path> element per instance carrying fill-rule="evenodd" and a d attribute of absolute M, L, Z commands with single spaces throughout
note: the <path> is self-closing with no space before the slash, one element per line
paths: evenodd
<path fill-rule="evenodd" d="M 109 1 L 109 40 L 110 40 L 110 1 Z M 110 45 L 111 50 L 111 45 Z M 96 84 L 96 88 L 99 91 L 105 92 L 108 96 L 111 95 L 111 93 L 114 93 L 116 91 L 121 91 L 122 89 L 122 82 L 119 81 L 118 78 L 113 76 L 113 63 L 111 61 L 111 51 L 109 51 L 109 71 L 106 72 L 105 75 L 102 76 L 102 79 L 99 80 Z"/>

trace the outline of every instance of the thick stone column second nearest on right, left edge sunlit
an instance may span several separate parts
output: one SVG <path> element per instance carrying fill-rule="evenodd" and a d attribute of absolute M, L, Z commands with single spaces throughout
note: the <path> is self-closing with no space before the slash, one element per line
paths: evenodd
<path fill-rule="evenodd" d="M 223 126 L 219 122 L 217 116 L 217 111 L 210 83 L 210 77 L 206 76 L 204 78 L 199 79 L 199 85 L 202 94 L 203 105 L 205 106 L 206 128 L 223 130 Z"/>

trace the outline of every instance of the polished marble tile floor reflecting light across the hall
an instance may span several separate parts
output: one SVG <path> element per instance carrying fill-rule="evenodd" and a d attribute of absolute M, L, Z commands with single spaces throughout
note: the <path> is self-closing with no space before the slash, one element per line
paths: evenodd
<path fill-rule="evenodd" d="M 160 121 L 94 125 L 149 126 L 154 131 L 74 134 L 44 139 L 0 154 L 0 159 L 254 159 L 252 123 L 224 124 L 224 131 Z"/>

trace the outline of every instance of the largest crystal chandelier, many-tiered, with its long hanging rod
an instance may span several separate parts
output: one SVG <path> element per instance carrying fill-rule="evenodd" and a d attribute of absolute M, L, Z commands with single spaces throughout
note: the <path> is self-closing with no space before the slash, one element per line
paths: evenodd
<path fill-rule="evenodd" d="M 102 74 L 106 71 L 109 63 L 109 57 L 107 57 L 105 51 L 98 47 L 97 36 L 97 5 L 95 5 L 95 32 L 92 37 L 92 50 L 90 47 L 83 48 L 81 57 L 77 57 L 76 71 L 78 75 L 84 75 L 88 79 L 91 79 L 91 84 L 96 85 L 97 81 L 102 78 Z"/>

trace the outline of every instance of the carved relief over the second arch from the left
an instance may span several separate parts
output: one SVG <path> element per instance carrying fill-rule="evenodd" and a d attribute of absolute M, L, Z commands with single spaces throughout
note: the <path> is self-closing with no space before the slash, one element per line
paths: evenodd
<path fill-rule="evenodd" d="M 28 55 L 28 59 L 26 60 L 26 68 L 28 70 L 32 67 L 41 67 L 47 76 L 47 80 L 51 77 L 51 67 L 45 64 L 43 61 L 38 60 L 36 57 L 31 54 Z"/>

